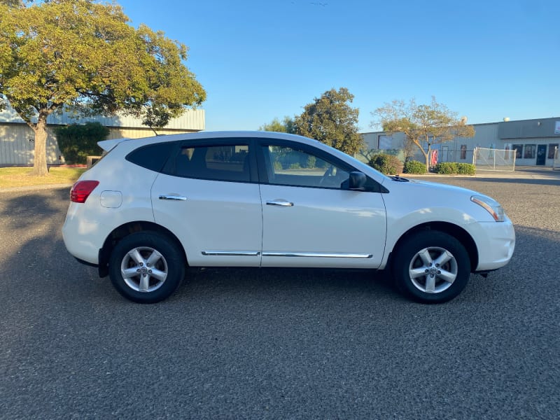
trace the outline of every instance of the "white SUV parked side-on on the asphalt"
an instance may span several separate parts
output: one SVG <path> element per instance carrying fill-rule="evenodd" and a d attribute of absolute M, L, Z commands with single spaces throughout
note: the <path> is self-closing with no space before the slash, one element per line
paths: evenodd
<path fill-rule="evenodd" d="M 164 300 L 191 267 L 391 269 L 445 302 L 512 258 L 498 202 L 387 177 L 318 141 L 200 132 L 100 141 L 71 190 L 64 244 L 134 302 Z"/>

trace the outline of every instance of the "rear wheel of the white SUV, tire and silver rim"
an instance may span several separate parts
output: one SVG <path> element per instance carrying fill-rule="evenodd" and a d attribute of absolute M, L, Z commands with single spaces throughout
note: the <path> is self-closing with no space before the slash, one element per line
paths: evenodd
<path fill-rule="evenodd" d="M 121 239 L 109 258 L 109 276 L 118 293 L 138 303 L 167 299 L 185 277 L 186 261 L 176 241 L 158 232 Z"/>

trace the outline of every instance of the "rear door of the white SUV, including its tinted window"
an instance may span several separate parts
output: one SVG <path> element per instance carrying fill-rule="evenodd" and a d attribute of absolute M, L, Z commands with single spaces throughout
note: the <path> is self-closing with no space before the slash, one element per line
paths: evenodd
<path fill-rule="evenodd" d="M 262 210 L 249 139 L 184 142 L 151 191 L 155 222 L 193 266 L 260 265 Z"/>

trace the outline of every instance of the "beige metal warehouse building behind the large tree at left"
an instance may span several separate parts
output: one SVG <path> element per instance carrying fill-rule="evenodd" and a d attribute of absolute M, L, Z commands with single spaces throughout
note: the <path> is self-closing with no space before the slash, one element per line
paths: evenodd
<path fill-rule="evenodd" d="M 137 139 L 154 135 L 151 128 L 141 124 L 139 118 L 131 116 L 90 117 L 76 119 L 71 113 L 52 114 L 47 119 L 47 164 L 64 163 L 54 128 L 70 124 L 97 122 L 110 130 L 109 139 L 129 137 Z M 204 110 L 189 109 L 183 116 L 174 118 L 158 134 L 176 134 L 181 132 L 199 132 L 204 130 Z M 32 165 L 34 159 L 34 132 L 25 124 L 13 109 L 8 107 L 0 112 L 0 166 Z"/>

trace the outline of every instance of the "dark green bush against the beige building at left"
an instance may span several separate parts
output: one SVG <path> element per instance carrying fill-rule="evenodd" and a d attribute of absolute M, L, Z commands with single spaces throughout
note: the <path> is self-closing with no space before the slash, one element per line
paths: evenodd
<path fill-rule="evenodd" d="M 87 156 L 98 156 L 102 149 L 97 141 L 109 136 L 109 129 L 99 123 L 72 124 L 55 129 L 58 147 L 66 163 L 85 163 Z"/>

